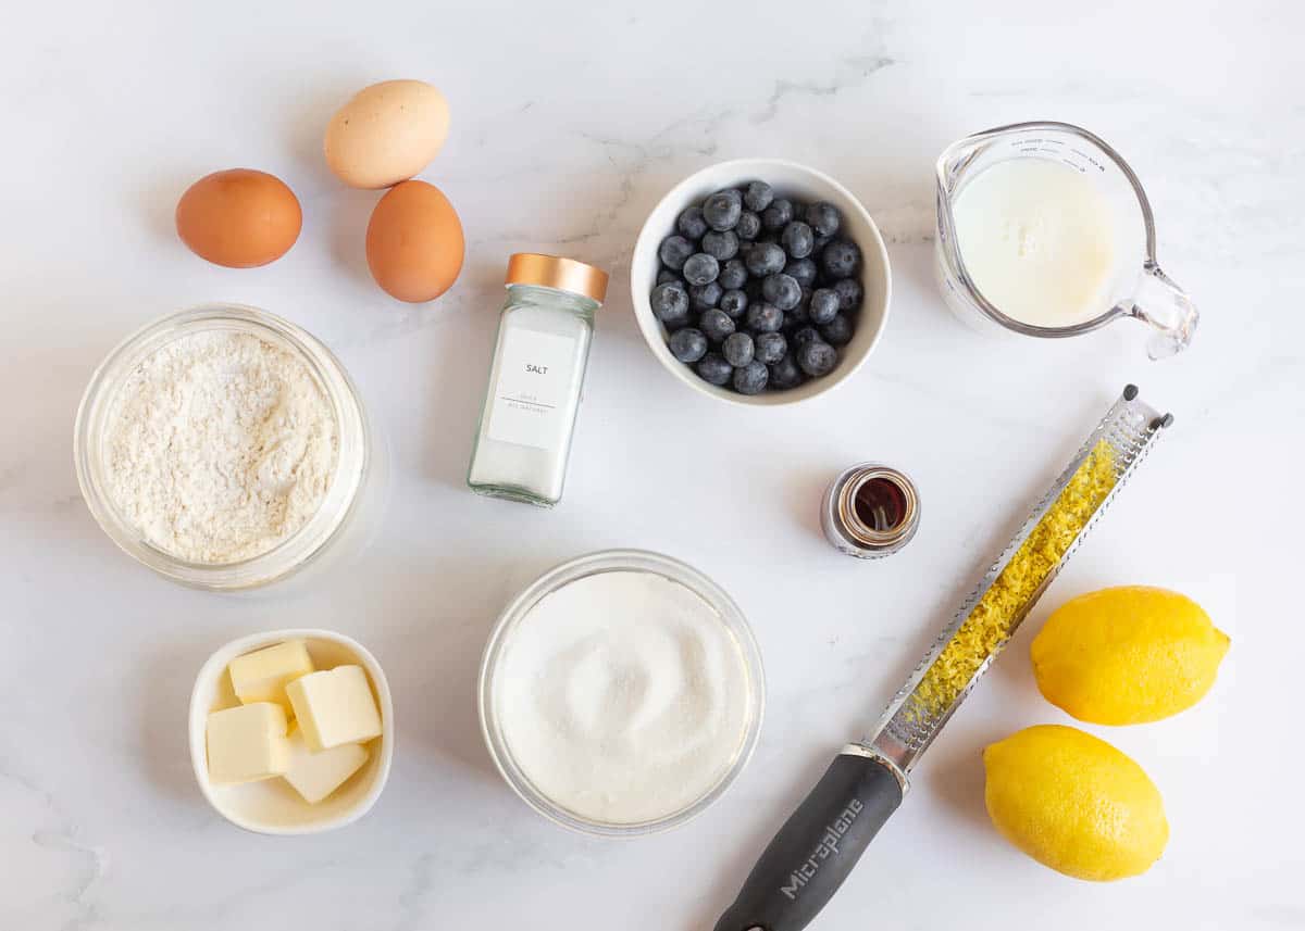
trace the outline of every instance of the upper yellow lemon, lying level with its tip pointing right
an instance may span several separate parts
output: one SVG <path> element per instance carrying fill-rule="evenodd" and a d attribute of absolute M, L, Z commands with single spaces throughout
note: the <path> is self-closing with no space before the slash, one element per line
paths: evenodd
<path fill-rule="evenodd" d="M 1210 691 L 1228 635 L 1186 596 L 1126 585 L 1061 605 L 1028 652 L 1052 704 L 1079 721 L 1143 724 Z"/>

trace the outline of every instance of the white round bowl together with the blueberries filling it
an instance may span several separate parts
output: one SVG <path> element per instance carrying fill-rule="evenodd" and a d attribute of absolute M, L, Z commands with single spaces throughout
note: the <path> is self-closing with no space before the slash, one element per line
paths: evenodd
<path fill-rule="evenodd" d="M 689 387 L 790 404 L 846 381 L 889 310 L 889 257 L 838 181 L 780 159 L 722 162 L 649 215 L 630 267 L 652 355 Z"/>

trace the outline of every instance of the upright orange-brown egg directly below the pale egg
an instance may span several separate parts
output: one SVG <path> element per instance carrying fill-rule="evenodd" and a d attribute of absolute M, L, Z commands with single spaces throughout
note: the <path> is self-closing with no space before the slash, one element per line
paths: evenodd
<path fill-rule="evenodd" d="M 462 222 L 438 188 L 403 181 L 386 192 L 367 224 L 367 266 L 401 301 L 431 301 L 462 271 Z"/>

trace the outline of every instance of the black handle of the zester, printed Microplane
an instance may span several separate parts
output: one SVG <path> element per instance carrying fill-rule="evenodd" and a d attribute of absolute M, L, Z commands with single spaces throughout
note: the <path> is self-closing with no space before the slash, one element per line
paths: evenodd
<path fill-rule="evenodd" d="M 900 803 L 902 784 L 882 761 L 837 756 L 766 846 L 715 931 L 801 931 Z"/>

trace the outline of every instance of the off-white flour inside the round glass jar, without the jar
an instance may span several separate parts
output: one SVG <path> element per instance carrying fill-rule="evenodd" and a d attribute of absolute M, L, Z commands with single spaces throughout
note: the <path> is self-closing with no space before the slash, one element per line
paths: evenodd
<path fill-rule="evenodd" d="M 108 495 L 151 545 L 191 562 L 266 553 L 330 486 L 335 416 L 304 362 L 252 334 L 181 336 L 110 409 Z"/>

